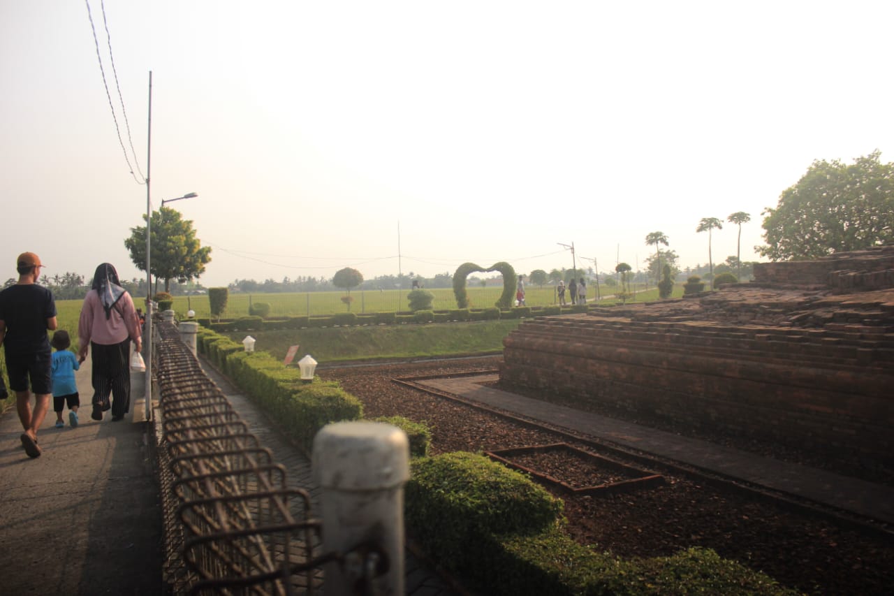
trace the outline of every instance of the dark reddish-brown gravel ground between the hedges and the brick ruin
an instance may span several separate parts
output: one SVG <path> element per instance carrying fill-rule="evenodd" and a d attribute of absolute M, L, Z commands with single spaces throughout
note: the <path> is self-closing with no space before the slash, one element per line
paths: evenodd
<path fill-rule="evenodd" d="M 401 377 L 493 370 L 499 362 L 500 358 L 494 357 L 325 367 L 318 374 L 322 379 L 339 380 L 357 396 L 367 418 L 401 415 L 426 422 L 432 430 L 432 455 L 568 442 L 548 430 L 533 430 L 392 382 Z M 726 438 L 713 439 L 730 443 Z M 583 443 L 574 447 L 595 451 Z M 763 455 L 774 454 L 773 446 L 750 447 Z M 810 459 L 809 454 L 793 454 L 790 450 L 781 452 L 780 457 Z M 578 486 L 598 484 L 607 473 L 579 457 L 555 453 L 523 456 L 519 463 Z M 581 544 L 611 550 L 625 558 L 670 555 L 693 546 L 715 549 L 722 557 L 737 559 L 780 583 L 811 594 L 894 593 L 894 544 L 890 540 L 839 527 L 739 491 L 705 485 L 679 473 L 656 471 L 663 474 L 665 483 L 648 490 L 588 496 L 551 489 L 565 501 L 569 533 Z"/>

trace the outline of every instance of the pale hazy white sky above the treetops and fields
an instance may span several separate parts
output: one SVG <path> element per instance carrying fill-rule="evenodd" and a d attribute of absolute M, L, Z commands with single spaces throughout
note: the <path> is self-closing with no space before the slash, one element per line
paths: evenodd
<path fill-rule="evenodd" d="M 654 231 L 686 267 L 699 220 L 735 211 L 756 260 L 761 211 L 814 159 L 894 160 L 890 0 L 105 0 L 117 84 L 89 7 L 134 175 L 87 3 L 0 0 L 2 279 L 21 251 L 50 277 L 145 276 L 123 241 L 149 71 L 152 203 L 198 192 L 171 207 L 212 247 L 205 285 L 548 271 L 572 242 L 578 268 L 636 268 Z M 725 224 L 714 260 L 735 253 Z"/>

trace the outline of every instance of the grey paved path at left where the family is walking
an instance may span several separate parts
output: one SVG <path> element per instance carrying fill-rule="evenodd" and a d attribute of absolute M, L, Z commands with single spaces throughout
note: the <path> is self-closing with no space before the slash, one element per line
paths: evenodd
<path fill-rule="evenodd" d="M 55 429 L 49 413 L 38 432 L 43 455 L 21 448 L 13 407 L 0 417 L 0 553 L 4 594 L 162 593 L 161 510 L 147 464 L 146 423 L 90 420 L 90 359 L 76 373 L 80 424 Z M 143 375 L 131 379 L 143 395 Z M 33 404 L 33 400 L 32 400 Z M 142 401 L 140 401 L 142 404 Z"/>

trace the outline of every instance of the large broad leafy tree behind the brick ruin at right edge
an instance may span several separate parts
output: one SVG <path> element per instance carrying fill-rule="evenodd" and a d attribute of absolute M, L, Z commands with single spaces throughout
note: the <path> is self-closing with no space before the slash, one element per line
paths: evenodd
<path fill-rule="evenodd" d="M 763 210 L 765 246 L 771 260 L 810 260 L 894 241 L 894 163 L 878 150 L 847 166 L 814 161 L 797 184 Z"/>

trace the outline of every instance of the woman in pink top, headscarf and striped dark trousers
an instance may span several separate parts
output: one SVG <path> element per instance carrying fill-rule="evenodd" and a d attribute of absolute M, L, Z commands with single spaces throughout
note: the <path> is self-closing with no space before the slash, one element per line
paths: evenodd
<path fill-rule="evenodd" d="M 122 288 L 118 272 L 109 263 L 102 263 L 93 275 L 93 284 L 84 298 L 78 321 L 80 362 L 92 358 L 93 413 L 90 418 L 103 419 L 112 410 L 112 421 L 120 421 L 131 408 L 131 340 L 136 351 L 142 350 L 139 317 L 131 294 Z M 114 397 L 109 404 L 109 394 Z"/>

